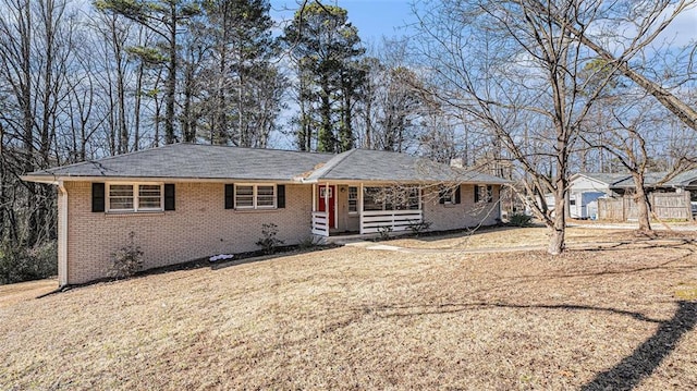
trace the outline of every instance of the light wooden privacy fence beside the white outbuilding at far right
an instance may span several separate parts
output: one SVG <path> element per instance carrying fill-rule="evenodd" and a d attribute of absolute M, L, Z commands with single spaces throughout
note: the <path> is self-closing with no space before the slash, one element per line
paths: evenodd
<path fill-rule="evenodd" d="M 650 193 L 651 218 L 661 220 L 692 220 L 689 192 Z M 656 216 L 653 216 L 656 215 Z M 598 198 L 598 220 L 627 221 L 637 220 L 638 208 L 634 197 Z"/>

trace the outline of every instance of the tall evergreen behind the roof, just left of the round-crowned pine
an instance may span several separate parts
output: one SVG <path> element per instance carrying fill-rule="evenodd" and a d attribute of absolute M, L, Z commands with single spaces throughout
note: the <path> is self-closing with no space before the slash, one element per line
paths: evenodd
<path fill-rule="evenodd" d="M 268 0 L 205 0 L 206 90 L 211 143 L 265 146 L 279 113 L 283 78 Z"/>

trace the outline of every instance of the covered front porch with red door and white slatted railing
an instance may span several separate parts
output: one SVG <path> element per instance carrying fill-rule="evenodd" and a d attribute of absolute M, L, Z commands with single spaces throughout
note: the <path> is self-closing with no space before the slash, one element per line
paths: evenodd
<path fill-rule="evenodd" d="M 421 198 L 417 185 L 315 183 L 311 232 L 329 237 L 409 231 L 424 222 Z"/>

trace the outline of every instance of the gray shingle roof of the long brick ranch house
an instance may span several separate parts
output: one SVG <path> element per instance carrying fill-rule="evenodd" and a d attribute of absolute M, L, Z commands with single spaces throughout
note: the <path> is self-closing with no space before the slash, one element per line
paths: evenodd
<path fill-rule="evenodd" d="M 29 181 L 78 178 L 260 180 L 305 182 L 319 180 L 386 182 L 463 182 L 503 184 L 497 176 L 452 169 L 405 154 L 352 149 L 331 155 L 278 149 L 173 144 L 99 160 L 36 171 Z"/>

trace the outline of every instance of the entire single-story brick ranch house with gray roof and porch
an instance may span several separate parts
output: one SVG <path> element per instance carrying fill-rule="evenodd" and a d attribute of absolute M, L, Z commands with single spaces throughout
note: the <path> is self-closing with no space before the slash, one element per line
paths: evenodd
<path fill-rule="evenodd" d="M 261 224 L 310 235 L 494 224 L 506 181 L 404 154 L 173 144 L 37 171 L 59 188 L 60 285 L 107 276 L 131 232 L 144 267 L 259 249 Z"/>

